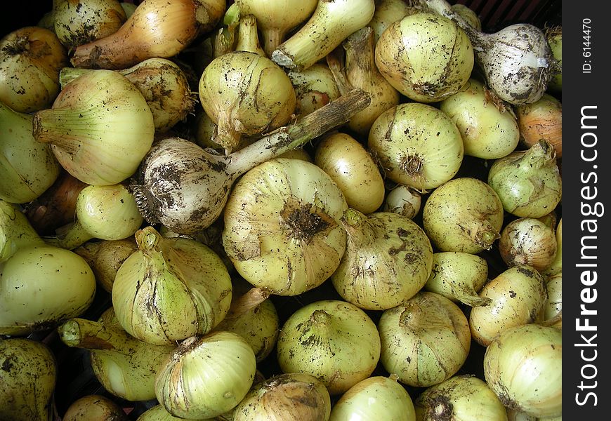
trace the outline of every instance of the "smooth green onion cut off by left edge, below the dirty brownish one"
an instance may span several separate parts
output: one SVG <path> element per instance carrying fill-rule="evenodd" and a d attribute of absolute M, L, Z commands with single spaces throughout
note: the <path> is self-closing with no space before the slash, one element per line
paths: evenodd
<path fill-rule="evenodd" d="M 32 120 L 0 101 L 0 199 L 11 203 L 37 199 L 60 175 L 51 146 L 34 140 Z"/>

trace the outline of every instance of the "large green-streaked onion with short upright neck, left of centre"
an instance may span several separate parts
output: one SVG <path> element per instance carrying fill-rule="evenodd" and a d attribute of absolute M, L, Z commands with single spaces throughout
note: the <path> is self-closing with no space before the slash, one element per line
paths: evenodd
<path fill-rule="evenodd" d="M 121 326 L 154 345 L 208 333 L 229 311 L 232 286 L 223 260 L 185 238 L 163 238 L 153 227 L 136 232 L 138 251 L 112 285 Z"/>

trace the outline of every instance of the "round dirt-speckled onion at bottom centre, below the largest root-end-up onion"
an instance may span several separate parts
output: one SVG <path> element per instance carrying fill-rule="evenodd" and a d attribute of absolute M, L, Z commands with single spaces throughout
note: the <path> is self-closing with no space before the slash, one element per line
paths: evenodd
<path fill-rule="evenodd" d="M 313 375 L 329 394 L 337 395 L 373 373 L 380 335 L 362 309 L 341 300 L 320 300 L 289 316 L 276 351 L 283 373 Z"/>

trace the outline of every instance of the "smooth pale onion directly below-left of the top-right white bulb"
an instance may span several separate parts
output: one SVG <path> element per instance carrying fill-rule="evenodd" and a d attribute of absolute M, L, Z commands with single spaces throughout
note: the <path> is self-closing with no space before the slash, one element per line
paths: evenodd
<path fill-rule="evenodd" d="M 461 132 L 465 155 L 497 159 L 518 146 L 521 131 L 515 115 L 492 95 L 482 82 L 469 79 L 460 91 L 440 104 L 441 111 Z"/>

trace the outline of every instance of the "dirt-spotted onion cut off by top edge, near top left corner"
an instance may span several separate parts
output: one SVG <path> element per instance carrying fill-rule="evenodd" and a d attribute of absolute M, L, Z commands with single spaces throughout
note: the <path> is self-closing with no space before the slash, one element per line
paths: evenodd
<path fill-rule="evenodd" d="M 67 48 L 112 35 L 127 20 L 119 0 L 55 0 L 53 13 L 55 34 Z"/>

